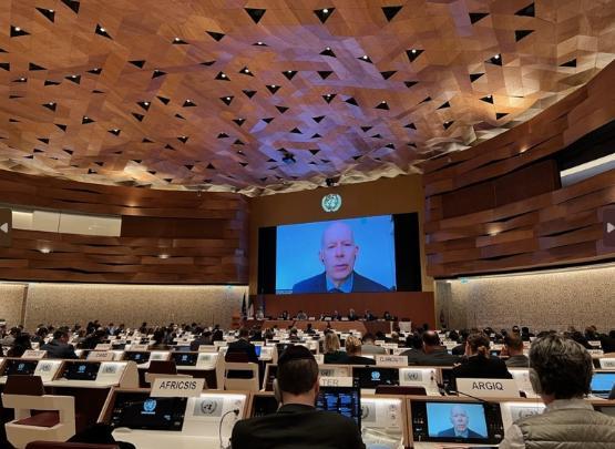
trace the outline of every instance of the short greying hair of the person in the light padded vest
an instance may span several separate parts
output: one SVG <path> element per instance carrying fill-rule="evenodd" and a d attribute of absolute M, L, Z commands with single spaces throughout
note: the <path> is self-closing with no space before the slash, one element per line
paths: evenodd
<path fill-rule="evenodd" d="M 542 391 L 555 399 L 583 397 L 590 392 L 592 356 L 570 338 L 551 334 L 534 340 L 530 367 L 536 371 Z"/>

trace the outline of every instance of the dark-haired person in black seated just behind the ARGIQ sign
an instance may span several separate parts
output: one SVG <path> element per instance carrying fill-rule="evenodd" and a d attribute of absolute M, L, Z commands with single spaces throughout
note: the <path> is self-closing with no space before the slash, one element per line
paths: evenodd
<path fill-rule="evenodd" d="M 470 335 L 465 343 L 467 358 L 452 369 L 453 378 L 512 379 L 504 360 L 489 354 L 489 344 L 483 333 Z"/>

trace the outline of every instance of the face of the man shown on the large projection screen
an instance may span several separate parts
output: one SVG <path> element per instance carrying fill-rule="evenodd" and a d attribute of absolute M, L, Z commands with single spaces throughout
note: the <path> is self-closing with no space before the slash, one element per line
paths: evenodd
<path fill-rule="evenodd" d="M 320 261 L 325 265 L 327 277 L 334 283 L 346 280 L 352 269 L 359 247 L 355 245 L 355 236 L 350 226 L 334 223 L 322 234 Z"/>

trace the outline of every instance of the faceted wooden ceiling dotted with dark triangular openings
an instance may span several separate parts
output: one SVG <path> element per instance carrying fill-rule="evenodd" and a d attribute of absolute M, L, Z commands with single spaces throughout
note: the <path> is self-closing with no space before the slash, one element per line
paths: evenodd
<path fill-rule="evenodd" d="M 615 0 L 4 0 L 0 167 L 259 195 L 420 170 L 615 58 Z"/>

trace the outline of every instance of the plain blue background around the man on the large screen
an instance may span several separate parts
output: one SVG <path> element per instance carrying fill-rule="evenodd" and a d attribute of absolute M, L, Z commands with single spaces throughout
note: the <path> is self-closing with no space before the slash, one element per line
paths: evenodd
<path fill-rule="evenodd" d="M 396 285 L 394 233 L 391 215 L 340 220 L 355 233 L 359 254 L 355 271 L 387 288 Z M 289 293 L 299 280 L 325 271 L 318 257 L 320 238 L 332 223 L 300 223 L 277 227 L 276 292 Z"/>

